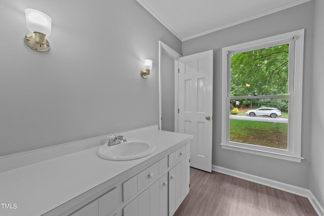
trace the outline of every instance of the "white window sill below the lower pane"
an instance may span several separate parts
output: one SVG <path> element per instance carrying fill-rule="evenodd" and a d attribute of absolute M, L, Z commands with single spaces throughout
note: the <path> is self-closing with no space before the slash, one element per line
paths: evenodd
<path fill-rule="evenodd" d="M 296 157 L 296 156 L 287 155 L 287 154 L 278 154 L 278 153 L 274 153 L 274 152 L 232 146 L 232 145 L 228 145 L 228 144 L 220 144 L 220 145 L 221 145 L 222 149 L 245 152 L 245 153 L 261 155 L 261 156 L 265 156 L 265 157 L 272 157 L 272 158 L 277 158 L 277 159 L 281 159 L 281 160 L 293 161 L 293 162 L 297 162 L 297 163 L 300 163 L 301 160 L 304 159 L 303 157 Z"/>

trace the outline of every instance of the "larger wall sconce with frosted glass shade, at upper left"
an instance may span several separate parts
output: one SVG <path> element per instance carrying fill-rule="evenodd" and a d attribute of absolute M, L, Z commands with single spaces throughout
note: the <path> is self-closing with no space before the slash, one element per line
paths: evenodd
<path fill-rule="evenodd" d="M 26 9 L 25 15 L 27 27 L 31 31 L 25 36 L 26 44 L 37 52 L 48 51 L 50 49 L 50 43 L 46 39 L 46 36 L 51 34 L 51 17 L 34 9 Z"/>

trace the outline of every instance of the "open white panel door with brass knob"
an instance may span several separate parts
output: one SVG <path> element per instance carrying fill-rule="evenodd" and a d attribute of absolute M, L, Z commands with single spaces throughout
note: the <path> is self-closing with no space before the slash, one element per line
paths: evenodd
<path fill-rule="evenodd" d="M 191 134 L 190 166 L 212 171 L 213 51 L 179 58 L 178 132 Z"/>

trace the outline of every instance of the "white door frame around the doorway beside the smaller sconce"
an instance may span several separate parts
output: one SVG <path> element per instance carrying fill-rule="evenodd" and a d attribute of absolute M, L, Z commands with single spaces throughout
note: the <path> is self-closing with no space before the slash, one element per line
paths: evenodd
<path fill-rule="evenodd" d="M 167 54 L 169 57 L 174 59 L 174 76 L 175 76 L 175 132 L 178 132 L 178 59 L 182 57 L 179 53 L 174 51 L 168 45 L 162 41 L 158 41 L 158 129 L 161 130 L 162 126 L 162 83 L 161 83 L 161 63 L 162 63 L 162 53 Z"/>

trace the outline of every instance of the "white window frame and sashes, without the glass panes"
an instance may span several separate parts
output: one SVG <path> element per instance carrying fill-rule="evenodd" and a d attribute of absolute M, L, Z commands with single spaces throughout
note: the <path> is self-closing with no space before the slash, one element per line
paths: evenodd
<path fill-rule="evenodd" d="M 301 162 L 301 127 L 302 127 L 302 94 L 304 64 L 305 29 L 270 36 L 245 42 L 222 49 L 222 131 L 221 148 L 239 152 L 262 155 L 288 161 Z M 276 149 L 264 146 L 242 144 L 229 141 L 229 100 L 236 98 L 269 98 L 269 96 L 230 96 L 230 56 L 235 53 L 248 52 L 266 47 L 290 43 L 289 51 L 289 87 L 288 95 L 270 98 L 289 98 L 288 149 Z M 291 49 L 294 45 L 294 49 Z M 291 61 L 293 63 L 291 64 Z"/>

